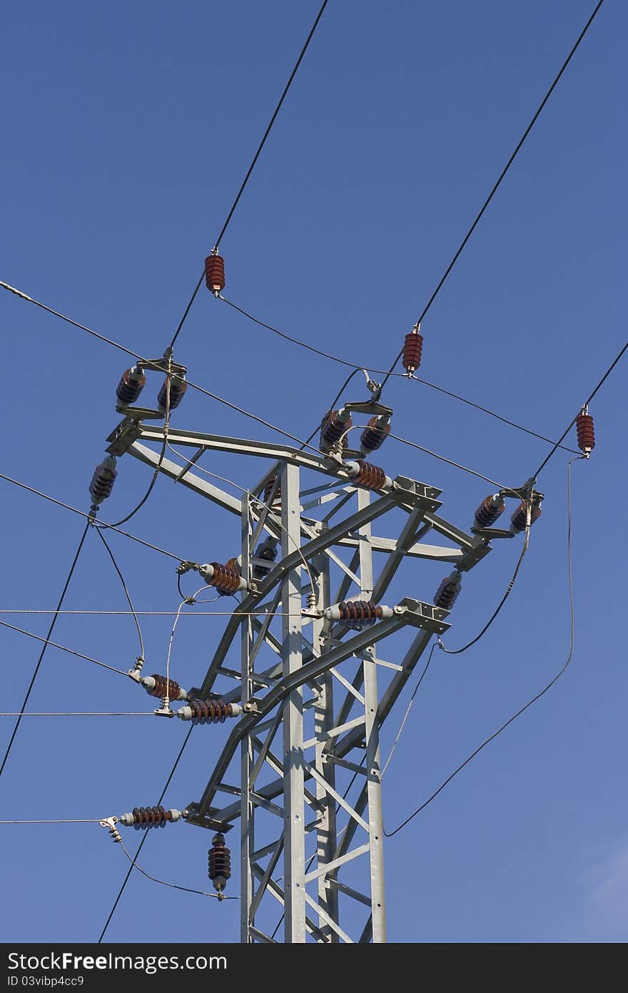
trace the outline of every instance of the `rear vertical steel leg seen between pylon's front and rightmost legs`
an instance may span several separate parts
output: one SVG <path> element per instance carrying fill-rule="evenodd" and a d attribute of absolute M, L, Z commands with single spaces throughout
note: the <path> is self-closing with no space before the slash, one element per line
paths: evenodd
<path fill-rule="evenodd" d="M 329 559 L 326 555 L 317 555 L 313 561 L 316 576 L 316 606 L 319 611 L 324 611 L 329 606 Z M 325 650 L 325 638 L 323 627 L 328 622 L 322 618 L 314 621 L 313 624 L 313 648 L 316 654 Z M 318 738 L 318 744 L 314 746 L 314 767 L 323 780 L 332 789 L 335 788 L 335 767 L 331 762 L 325 762 L 324 747 L 327 744 L 326 732 L 333 727 L 333 676 L 330 672 L 325 672 L 317 680 L 320 690 L 316 693 L 314 704 L 314 735 Z M 318 826 L 316 829 L 316 867 L 326 865 L 334 857 L 336 848 L 336 812 L 335 800 L 326 791 L 321 782 L 316 780 L 316 799 L 323 804 L 323 809 L 318 813 Z M 338 923 L 338 894 L 325 876 L 318 877 L 318 903 L 332 921 Z M 318 918 L 318 926 L 327 940 L 337 942 L 338 935 L 332 927 Z"/>

